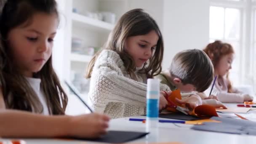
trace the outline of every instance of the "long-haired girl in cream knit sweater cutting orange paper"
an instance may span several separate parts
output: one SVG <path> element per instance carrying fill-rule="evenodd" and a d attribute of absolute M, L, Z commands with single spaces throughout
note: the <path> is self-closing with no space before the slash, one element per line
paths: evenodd
<path fill-rule="evenodd" d="M 142 9 L 125 13 L 88 65 L 95 111 L 112 118 L 145 114 L 147 78 L 161 72 L 162 59 L 163 38 L 155 20 Z M 163 109 L 168 104 L 163 91 L 170 89 L 160 85 L 160 91 Z"/>

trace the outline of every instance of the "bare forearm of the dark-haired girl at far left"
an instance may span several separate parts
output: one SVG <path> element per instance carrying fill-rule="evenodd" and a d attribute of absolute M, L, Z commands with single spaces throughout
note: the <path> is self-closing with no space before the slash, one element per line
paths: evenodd
<path fill-rule="evenodd" d="M 45 116 L 19 110 L 0 110 L 0 137 L 69 136 L 71 116 Z"/>

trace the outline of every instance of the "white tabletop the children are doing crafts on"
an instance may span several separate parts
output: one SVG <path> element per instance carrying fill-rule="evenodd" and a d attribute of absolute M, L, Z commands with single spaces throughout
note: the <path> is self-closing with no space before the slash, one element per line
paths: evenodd
<path fill-rule="evenodd" d="M 236 104 L 227 104 L 228 107 L 234 107 Z M 256 112 L 256 111 L 253 111 Z M 142 122 L 129 121 L 130 117 L 113 119 L 110 121 L 109 130 L 117 131 L 139 131 L 145 132 L 146 125 Z M 145 118 L 144 116 L 135 116 L 133 118 Z M 160 118 L 165 119 L 165 118 Z M 159 128 L 154 129 L 149 136 L 131 141 L 130 143 L 146 142 L 182 142 L 184 144 L 255 144 L 256 136 L 235 135 L 227 133 L 215 133 L 206 131 L 195 131 L 190 129 L 192 125 L 159 123 Z M 6 140 L 6 139 L 2 139 Z M 56 139 L 24 139 L 27 144 L 88 144 L 84 141 L 61 141 Z M 91 142 L 89 142 L 91 143 Z"/>

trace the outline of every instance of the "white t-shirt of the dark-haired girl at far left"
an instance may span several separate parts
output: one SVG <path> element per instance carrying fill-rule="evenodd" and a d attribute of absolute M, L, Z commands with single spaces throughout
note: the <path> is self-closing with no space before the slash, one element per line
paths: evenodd
<path fill-rule="evenodd" d="M 31 87 L 33 88 L 33 90 L 35 91 L 35 93 L 37 94 L 41 104 L 43 105 L 43 115 L 49 115 L 49 111 L 48 111 L 48 107 L 47 107 L 47 103 L 46 103 L 46 99 L 43 93 L 43 89 L 40 88 L 40 83 L 41 83 L 41 79 L 40 78 L 31 78 L 31 77 L 26 77 L 27 81 L 29 82 L 29 84 L 31 85 Z"/>

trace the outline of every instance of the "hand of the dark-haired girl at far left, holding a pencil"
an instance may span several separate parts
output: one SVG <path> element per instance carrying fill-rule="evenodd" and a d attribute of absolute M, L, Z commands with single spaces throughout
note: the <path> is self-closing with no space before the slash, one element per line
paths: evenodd
<path fill-rule="evenodd" d="M 68 123 L 68 136 L 98 138 L 107 133 L 109 119 L 107 115 L 97 113 L 72 116 Z"/>

